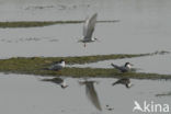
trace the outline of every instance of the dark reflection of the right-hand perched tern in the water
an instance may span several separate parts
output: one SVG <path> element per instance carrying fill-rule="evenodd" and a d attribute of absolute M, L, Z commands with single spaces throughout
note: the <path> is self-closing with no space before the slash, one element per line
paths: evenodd
<path fill-rule="evenodd" d="M 122 78 L 117 80 L 116 82 L 112 83 L 112 86 L 115 86 L 115 84 L 125 84 L 126 88 L 130 88 L 133 86 L 128 78 Z"/>

